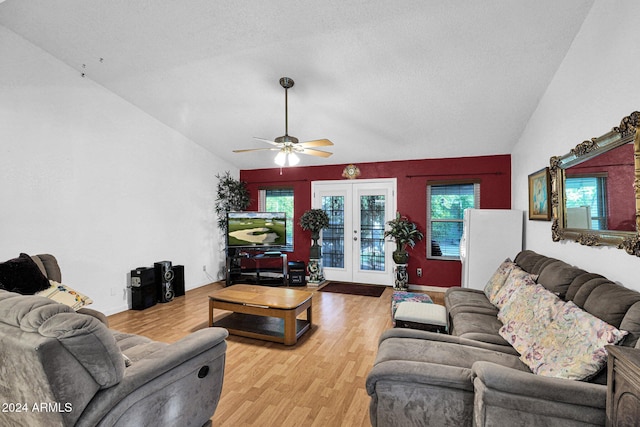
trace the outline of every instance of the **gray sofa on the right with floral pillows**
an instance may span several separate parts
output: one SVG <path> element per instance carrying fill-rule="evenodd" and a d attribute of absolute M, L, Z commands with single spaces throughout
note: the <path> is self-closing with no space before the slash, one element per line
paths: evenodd
<path fill-rule="evenodd" d="M 563 261 L 523 251 L 515 262 L 538 283 L 616 328 L 637 347 L 640 293 Z M 496 266 L 497 267 L 497 266 Z M 584 426 L 606 420 L 606 369 L 588 381 L 532 373 L 498 333 L 485 293 L 445 294 L 451 335 L 391 329 L 366 380 L 373 426 Z"/>

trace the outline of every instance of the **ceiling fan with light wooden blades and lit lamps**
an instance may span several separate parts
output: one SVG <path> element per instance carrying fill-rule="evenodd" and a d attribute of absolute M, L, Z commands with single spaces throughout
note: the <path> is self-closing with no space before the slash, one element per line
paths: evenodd
<path fill-rule="evenodd" d="M 318 157 L 329 157 L 332 153 L 328 151 L 316 150 L 312 147 L 327 147 L 333 145 L 333 142 L 328 139 L 315 139 L 313 141 L 299 142 L 298 138 L 289 135 L 289 110 L 288 110 L 288 98 L 287 91 L 293 87 L 293 79 L 289 77 L 282 77 L 280 79 L 280 86 L 284 88 L 284 135 L 279 136 L 274 140 L 265 138 L 255 138 L 259 141 L 271 144 L 274 147 L 269 148 L 248 148 L 244 150 L 233 150 L 234 153 L 246 153 L 249 151 L 278 151 L 274 162 L 279 166 L 284 166 L 287 161 L 289 166 L 295 166 L 300 162 L 298 154 L 308 154 Z"/>

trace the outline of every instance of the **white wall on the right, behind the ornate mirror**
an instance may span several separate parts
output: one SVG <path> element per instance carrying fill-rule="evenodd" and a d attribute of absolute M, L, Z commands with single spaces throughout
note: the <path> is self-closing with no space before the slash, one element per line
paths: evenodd
<path fill-rule="evenodd" d="M 636 2 L 596 1 L 512 152 L 514 209 L 528 210 L 528 174 L 640 110 L 638 36 Z M 527 221 L 525 247 L 640 290 L 640 258 L 612 247 L 553 242 L 550 222 Z"/>

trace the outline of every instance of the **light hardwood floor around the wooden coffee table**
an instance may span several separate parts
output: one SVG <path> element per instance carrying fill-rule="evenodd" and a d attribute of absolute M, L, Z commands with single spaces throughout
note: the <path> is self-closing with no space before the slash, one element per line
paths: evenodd
<path fill-rule="evenodd" d="M 221 287 L 213 283 L 167 304 L 109 316 L 110 327 L 177 341 L 208 327 L 208 295 Z M 314 293 L 312 329 L 295 346 L 230 335 L 214 426 L 370 425 L 365 379 L 378 337 L 391 327 L 392 288 L 379 298 L 296 289 Z M 442 294 L 430 295 L 442 304 Z"/>

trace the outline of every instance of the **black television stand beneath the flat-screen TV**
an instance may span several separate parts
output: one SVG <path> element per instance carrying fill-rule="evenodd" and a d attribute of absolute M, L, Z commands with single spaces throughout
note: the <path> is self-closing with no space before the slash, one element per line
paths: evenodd
<path fill-rule="evenodd" d="M 236 283 L 287 286 L 287 254 L 233 250 L 227 254 L 226 286 Z"/>

